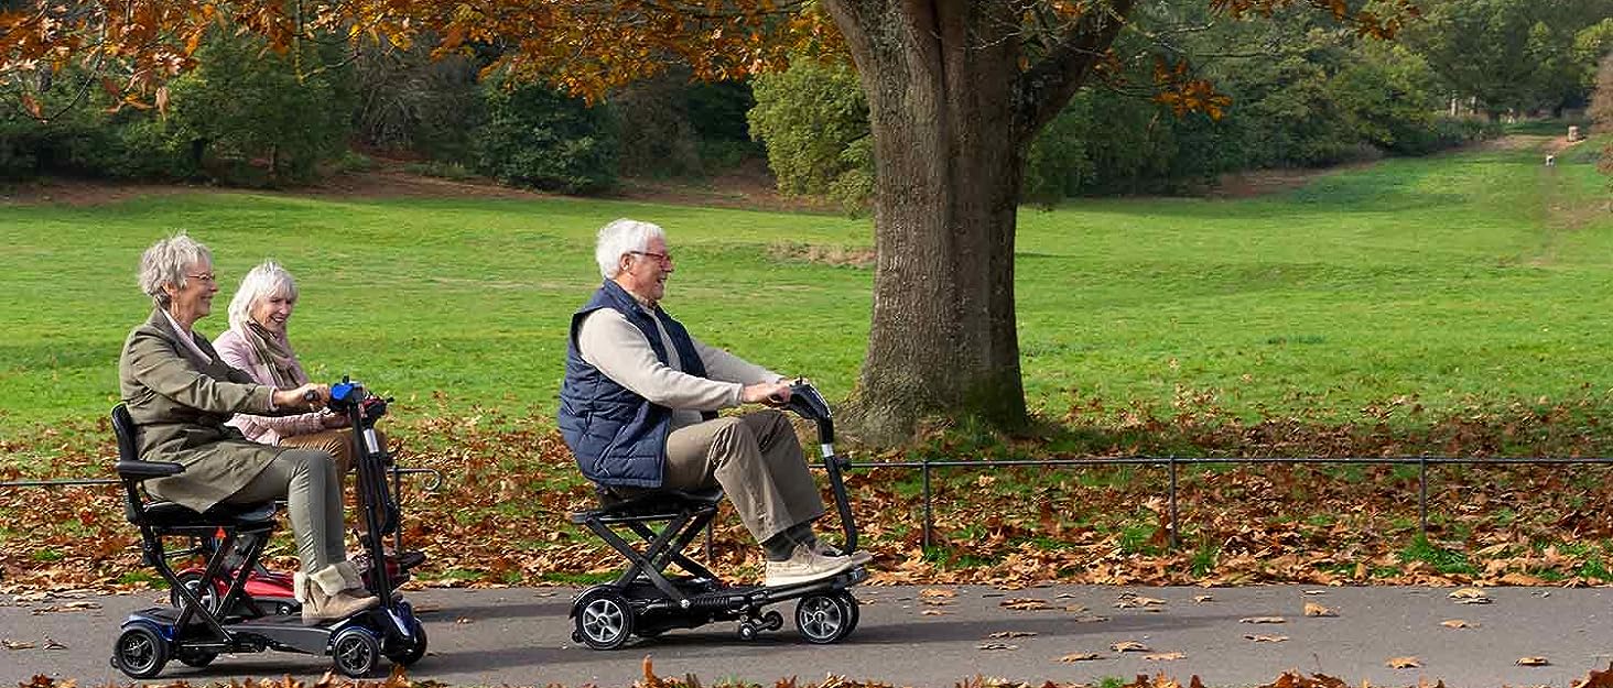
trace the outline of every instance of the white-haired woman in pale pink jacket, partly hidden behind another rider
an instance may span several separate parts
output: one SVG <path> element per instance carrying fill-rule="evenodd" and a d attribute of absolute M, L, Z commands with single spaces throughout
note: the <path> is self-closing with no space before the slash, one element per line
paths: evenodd
<path fill-rule="evenodd" d="M 253 267 L 229 300 L 229 330 L 213 343 L 218 356 L 261 385 L 290 390 L 308 383 L 308 374 L 286 337 L 295 306 L 297 282 L 290 272 L 274 261 Z M 353 430 L 344 414 L 329 409 L 300 416 L 235 414 L 227 425 L 240 429 L 252 441 L 326 451 L 336 459 L 340 475 L 353 467 Z M 376 437 L 386 446 L 381 432 Z M 411 551 L 397 564 L 406 569 L 423 561 L 424 554 Z"/>

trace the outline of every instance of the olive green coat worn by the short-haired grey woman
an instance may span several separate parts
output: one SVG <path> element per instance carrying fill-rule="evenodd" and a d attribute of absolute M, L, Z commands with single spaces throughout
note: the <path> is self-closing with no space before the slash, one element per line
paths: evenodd
<path fill-rule="evenodd" d="M 286 451 L 258 445 L 224 425 L 235 412 L 276 416 L 274 390 L 229 367 L 213 343 L 195 337 L 208 354 L 198 359 L 161 311 L 129 332 L 118 359 L 118 387 L 135 425 L 145 461 L 174 461 L 185 472 L 145 485 L 163 499 L 206 511 L 234 495 Z"/>

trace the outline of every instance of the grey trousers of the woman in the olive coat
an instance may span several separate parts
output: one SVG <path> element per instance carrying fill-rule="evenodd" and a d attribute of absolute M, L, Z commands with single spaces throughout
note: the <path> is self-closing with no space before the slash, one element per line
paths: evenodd
<path fill-rule="evenodd" d="M 286 499 L 305 574 L 347 561 L 342 543 L 342 477 L 329 453 L 287 450 L 234 495 L 231 504 Z"/>

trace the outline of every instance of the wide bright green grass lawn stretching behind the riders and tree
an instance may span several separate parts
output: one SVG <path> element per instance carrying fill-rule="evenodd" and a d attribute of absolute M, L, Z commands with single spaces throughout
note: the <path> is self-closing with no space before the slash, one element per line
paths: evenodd
<path fill-rule="evenodd" d="M 1589 160 L 1547 169 L 1526 147 L 1386 160 L 1252 200 L 1026 208 L 1027 395 L 1053 417 L 1073 395 L 1158 406 L 1211 393 L 1247 419 L 1340 421 L 1400 396 L 1436 411 L 1608 400 L 1607 193 Z M 669 230 L 666 306 L 698 337 L 834 396 L 850 390 L 873 274 L 779 247 L 866 250 L 868 219 L 198 190 L 0 205 L 0 437 L 116 401 L 123 337 L 148 311 L 140 250 L 176 229 L 213 248 L 221 276 L 203 332 L 226 327 L 239 277 L 273 256 L 300 280 L 292 338 L 315 377 L 350 372 L 400 412 L 442 395 L 552 414 L 568 317 L 598 282 L 594 230 L 619 216 Z"/>

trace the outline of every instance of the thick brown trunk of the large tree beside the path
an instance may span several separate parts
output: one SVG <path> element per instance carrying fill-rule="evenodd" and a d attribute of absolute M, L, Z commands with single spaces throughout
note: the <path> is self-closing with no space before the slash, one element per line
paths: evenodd
<path fill-rule="evenodd" d="M 877 161 L 873 330 L 850 416 L 868 441 L 927 416 L 1026 422 L 1015 330 L 1016 26 L 997 2 L 829 2 Z M 984 27 L 984 29 L 982 29 Z"/>

